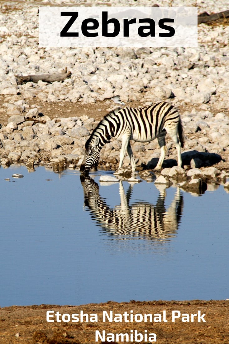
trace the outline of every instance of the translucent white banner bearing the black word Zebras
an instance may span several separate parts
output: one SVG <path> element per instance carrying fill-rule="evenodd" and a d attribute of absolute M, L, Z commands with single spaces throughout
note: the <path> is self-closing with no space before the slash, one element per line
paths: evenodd
<path fill-rule="evenodd" d="M 197 46 L 197 7 L 39 7 L 39 45 Z"/>

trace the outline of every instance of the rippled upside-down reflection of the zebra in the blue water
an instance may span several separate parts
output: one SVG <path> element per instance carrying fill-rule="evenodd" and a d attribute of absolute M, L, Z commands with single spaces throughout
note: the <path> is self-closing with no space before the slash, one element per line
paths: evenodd
<path fill-rule="evenodd" d="M 80 176 L 84 191 L 84 205 L 93 220 L 106 234 L 117 239 L 170 240 L 176 236 L 183 209 L 183 196 L 177 188 L 173 201 L 165 208 L 165 189 L 161 190 L 157 203 L 137 201 L 130 204 L 133 184 L 125 194 L 119 181 L 120 204 L 111 208 L 99 194 L 99 185 L 86 175 Z"/>

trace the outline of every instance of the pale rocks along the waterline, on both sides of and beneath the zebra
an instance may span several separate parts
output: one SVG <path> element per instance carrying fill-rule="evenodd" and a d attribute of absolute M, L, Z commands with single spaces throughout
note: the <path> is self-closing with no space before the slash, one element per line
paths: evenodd
<path fill-rule="evenodd" d="M 189 144 L 194 139 L 187 140 L 189 149 L 182 153 L 184 169 L 181 169 L 174 166 L 176 165 L 176 151 L 172 147 L 172 142 L 168 142 L 170 156 L 165 160 L 163 164 L 165 168 L 156 179 L 156 183 L 170 185 L 171 180 L 183 181 L 181 185 L 184 189 L 197 188 L 200 191 L 204 190 L 208 180 L 215 182 L 221 180 L 226 183 L 228 173 L 220 170 L 220 167 L 216 168 L 212 165 L 222 160 L 221 155 L 214 152 L 218 140 L 214 133 L 220 132 L 218 119 L 221 118 L 222 136 L 225 136 L 224 133 L 228 131 L 229 121 L 222 113 L 216 115 L 215 120 L 209 113 L 208 117 L 209 120 L 205 118 L 205 121 L 202 120 L 203 123 L 206 123 L 206 126 L 203 125 L 203 129 L 197 125 L 199 122 L 195 121 L 195 116 L 187 117 L 190 118 L 190 121 L 186 119 L 185 126 L 187 127 L 187 123 L 188 128 L 193 126 L 199 128 L 196 129 L 197 133 L 203 133 L 195 143 L 195 148 L 199 148 L 199 151 L 192 149 L 193 145 Z M 33 169 L 34 165 L 38 164 L 51 164 L 54 171 L 62 170 L 67 166 L 79 168 L 84 154 L 85 141 L 97 124 L 98 121 L 88 116 L 51 120 L 35 107 L 26 113 L 12 115 L 8 119 L 7 126 L 0 129 L 0 163 L 9 166 L 11 163 L 20 162 L 26 164 L 29 169 Z M 210 134 L 211 142 L 209 139 L 203 139 L 205 136 L 209 137 Z M 213 141 L 214 137 L 216 137 L 216 141 Z M 224 150 L 228 151 L 229 142 L 226 143 Z M 120 148 L 121 142 L 118 140 L 112 139 L 111 142 L 106 143 L 101 150 L 99 168 L 116 170 Z M 145 170 L 153 169 L 160 156 L 157 140 L 146 144 L 133 142 L 132 149 L 137 161 L 137 170 L 143 171 L 140 173 L 141 178 L 149 179 L 149 173 L 145 173 Z M 128 166 L 128 164 L 129 158 L 126 157 L 124 166 Z M 124 167 L 122 174 L 129 177 L 130 170 Z"/>

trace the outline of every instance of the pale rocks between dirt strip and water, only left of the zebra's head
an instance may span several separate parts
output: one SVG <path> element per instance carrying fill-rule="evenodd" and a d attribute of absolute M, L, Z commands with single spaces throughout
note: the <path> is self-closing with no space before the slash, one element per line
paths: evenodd
<path fill-rule="evenodd" d="M 51 120 L 37 108 L 12 115 L 0 130 L 1 164 L 77 163 L 93 123 L 86 116 Z"/>

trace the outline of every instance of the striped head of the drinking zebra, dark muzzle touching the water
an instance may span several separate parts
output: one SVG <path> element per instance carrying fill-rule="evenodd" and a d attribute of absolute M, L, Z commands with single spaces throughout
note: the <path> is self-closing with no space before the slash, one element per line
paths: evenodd
<path fill-rule="evenodd" d="M 80 172 L 88 173 L 94 166 L 96 167 L 99 162 L 99 149 L 98 149 L 99 138 L 96 137 L 94 142 L 86 142 L 85 153 L 82 164 L 80 166 Z"/>

